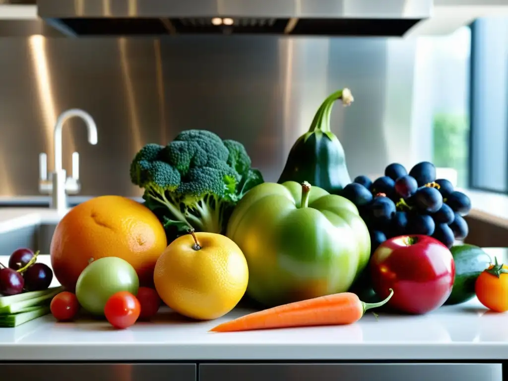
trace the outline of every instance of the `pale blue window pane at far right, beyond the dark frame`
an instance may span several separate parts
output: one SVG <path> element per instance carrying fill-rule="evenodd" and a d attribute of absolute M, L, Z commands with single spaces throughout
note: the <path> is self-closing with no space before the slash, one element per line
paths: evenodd
<path fill-rule="evenodd" d="M 470 187 L 508 193 L 508 18 L 471 26 Z"/>

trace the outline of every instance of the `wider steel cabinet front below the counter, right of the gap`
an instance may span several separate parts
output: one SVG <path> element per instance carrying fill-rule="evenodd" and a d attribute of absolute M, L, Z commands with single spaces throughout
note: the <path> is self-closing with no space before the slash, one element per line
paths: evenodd
<path fill-rule="evenodd" d="M 203 364 L 198 381 L 502 381 L 501 364 Z"/>

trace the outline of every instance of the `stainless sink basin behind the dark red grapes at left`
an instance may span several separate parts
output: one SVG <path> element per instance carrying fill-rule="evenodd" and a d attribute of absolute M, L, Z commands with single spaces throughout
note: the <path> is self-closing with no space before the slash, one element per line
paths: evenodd
<path fill-rule="evenodd" d="M 19 247 L 40 250 L 40 255 L 49 255 L 55 228 L 56 224 L 41 224 L 0 233 L 0 256 L 9 256 Z"/>

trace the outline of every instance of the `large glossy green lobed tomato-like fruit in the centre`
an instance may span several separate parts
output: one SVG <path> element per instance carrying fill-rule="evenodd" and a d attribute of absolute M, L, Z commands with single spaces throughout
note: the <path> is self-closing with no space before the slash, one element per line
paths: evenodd
<path fill-rule="evenodd" d="M 306 182 L 253 187 L 226 234 L 247 260 L 247 294 L 265 306 L 345 292 L 370 257 L 357 207 Z"/>

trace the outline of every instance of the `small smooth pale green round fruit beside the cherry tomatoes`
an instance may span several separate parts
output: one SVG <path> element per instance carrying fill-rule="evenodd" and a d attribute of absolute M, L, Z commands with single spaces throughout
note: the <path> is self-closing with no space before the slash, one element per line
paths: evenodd
<path fill-rule="evenodd" d="M 76 283 L 79 304 L 94 315 L 104 315 L 108 299 L 119 291 L 137 295 L 139 278 L 129 262 L 117 257 L 104 257 L 85 267 Z"/>

